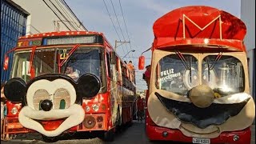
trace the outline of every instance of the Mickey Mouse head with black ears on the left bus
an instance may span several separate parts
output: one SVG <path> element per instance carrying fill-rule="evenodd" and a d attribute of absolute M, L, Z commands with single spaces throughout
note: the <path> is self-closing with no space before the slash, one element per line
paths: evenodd
<path fill-rule="evenodd" d="M 82 97 L 93 98 L 99 90 L 100 81 L 94 74 L 84 74 L 78 82 L 64 74 L 44 74 L 27 84 L 22 78 L 11 78 L 4 93 L 11 102 L 25 105 L 18 114 L 22 126 L 54 137 L 83 121 Z M 56 130 L 45 130 L 38 122 L 62 118 L 66 120 Z"/>

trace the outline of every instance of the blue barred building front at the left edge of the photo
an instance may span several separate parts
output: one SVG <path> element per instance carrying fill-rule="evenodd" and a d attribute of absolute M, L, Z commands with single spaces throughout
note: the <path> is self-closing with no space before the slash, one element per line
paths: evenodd
<path fill-rule="evenodd" d="M 18 37 L 26 34 L 26 19 L 30 15 L 10 0 L 1 0 L 1 82 L 10 77 L 10 70 L 3 70 L 5 54 L 16 46 Z M 10 66 L 13 54 L 9 53 Z"/>

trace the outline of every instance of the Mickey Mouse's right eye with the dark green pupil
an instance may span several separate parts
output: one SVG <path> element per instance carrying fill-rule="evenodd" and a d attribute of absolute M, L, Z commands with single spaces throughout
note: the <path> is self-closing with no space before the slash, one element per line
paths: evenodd
<path fill-rule="evenodd" d="M 70 107 L 70 93 L 68 90 L 60 88 L 54 93 L 54 109 L 62 110 Z"/>

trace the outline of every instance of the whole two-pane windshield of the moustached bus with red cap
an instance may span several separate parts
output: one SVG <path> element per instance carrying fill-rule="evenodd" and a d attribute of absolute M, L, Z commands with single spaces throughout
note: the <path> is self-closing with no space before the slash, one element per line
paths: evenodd
<path fill-rule="evenodd" d="M 200 58 L 200 57 L 197 57 Z M 202 64 L 190 54 L 169 54 L 158 62 L 156 86 L 175 94 L 187 96 L 188 91 L 200 84 L 210 86 L 220 96 L 245 90 L 242 62 L 229 55 L 207 55 Z M 202 78 L 198 67 L 202 66 Z"/>

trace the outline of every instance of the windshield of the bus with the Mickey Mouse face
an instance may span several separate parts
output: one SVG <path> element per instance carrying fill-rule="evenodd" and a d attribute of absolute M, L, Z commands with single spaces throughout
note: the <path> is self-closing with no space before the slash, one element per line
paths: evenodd
<path fill-rule="evenodd" d="M 34 54 L 33 66 L 35 76 L 50 73 L 65 74 L 67 66 L 72 66 L 78 76 L 82 74 L 94 74 L 102 83 L 102 74 L 104 74 L 104 52 L 100 47 L 80 46 L 69 57 L 68 54 L 72 47 L 54 47 L 49 49 L 36 49 Z M 14 54 L 14 66 L 12 78 L 23 78 L 26 82 L 30 80 L 31 51 L 19 51 Z M 59 64 L 65 61 L 62 66 Z M 78 80 L 74 79 L 75 81 Z"/>

